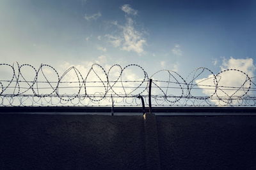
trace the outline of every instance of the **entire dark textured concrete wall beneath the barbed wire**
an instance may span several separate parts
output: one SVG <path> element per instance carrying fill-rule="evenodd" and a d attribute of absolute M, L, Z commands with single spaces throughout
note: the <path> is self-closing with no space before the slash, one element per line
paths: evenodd
<path fill-rule="evenodd" d="M 0 114 L 0 169 L 256 169 L 256 117 Z"/>

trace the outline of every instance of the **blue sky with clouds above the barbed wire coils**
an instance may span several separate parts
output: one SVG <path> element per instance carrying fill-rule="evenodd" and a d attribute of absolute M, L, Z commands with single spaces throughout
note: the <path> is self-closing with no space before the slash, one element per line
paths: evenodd
<path fill-rule="evenodd" d="M 254 76 L 255 30 L 251 0 L 0 0 L 0 62 L 58 70 L 138 64 L 149 75 L 169 69 L 184 77 L 196 67 L 236 68 Z"/>

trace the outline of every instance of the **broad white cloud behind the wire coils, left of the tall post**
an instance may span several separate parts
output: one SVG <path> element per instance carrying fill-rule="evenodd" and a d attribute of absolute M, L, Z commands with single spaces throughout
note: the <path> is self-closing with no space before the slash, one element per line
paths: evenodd
<path fill-rule="evenodd" d="M 121 69 L 118 66 L 114 66 L 111 68 L 111 70 L 109 71 L 108 74 L 108 79 L 106 77 L 106 73 L 108 73 L 108 69 L 111 67 L 111 65 L 109 65 L 109 59 L 105 56 L 105 55 L 100 55 L 99 57 L 97 57 L 97 59 L 92 60 L 92 61 L 86 61 L 86 62 L 81 62 L 81 64 L 70 64 L 69 62 L 65 62 L 64 64 L 61 65 L 61 70 L 64 72 L 66 71 L 68 68 L 70 67 L 75 67 L 76 69 L 78 69 L 80 71 L 80 73 L 82 74 L 83 78 L 87 78 L 86 79 L 86 94 L 89 95 L 93 95 L 93 94 L 104 94 L 106 92 L 106 87 L 108 86 L 108 84 L 106 83 L 107 80 L 109 80 L 109 84 L 113 85 L 113 90 L 115 90 L 115 92 L 117 94 L 120 95 L 125 95 L 126 94 L 133 94 L 133 95 L 138 95 L 141 92 L 143 92 L 143 89 L 136 89 L 134 90 L 134 88 L 132 87 L 138 87 L 140 85 L 141 82 L 132 82 L 132 81 L 125 81 L 125 80 L 137 80 L 137 81 L 143 81 L 143 75 L 144 72 L 136 66 L 129 66 L 127 67 L 124 71 L 122 71 L 122 80 L 123 82 L 113 82 L 116 81 L 118 79 L 118 77 L 120 78 L 120 73 L 121 73 Z M 100 64 L 99 67 L 97 65 L 93 66 L 93 63 L 96 64 Z M 106 71 L 104 72 L 103 71 Z M 61 79 L 61 81 L 77 81 L 77 73 L 76 71 L 74 71 L 75 69 L 70 69 L 71 71 L 68 72 L 68 74 Z M 89 74 L 88 74 L 89 73 Z M 79 75 L 79 74 L 78 74 Z M 119 79 L 120 80 L 120 79 Z M 98 81 L 98 82 L 92 82 L 92 81 Z M 104 81 L 104 82 L 101 82 Z M 92 83 L 90 83 L 92 82 Z M 65 86 L 69 86 L 69 87 L 74 87 L 74 88 L 69 88 L 69 89 L 60 89 L 60 94 L 76 94 L 77 91 L 79 90 L 76 87 L 79 87 L 79 83 L 61 83 L 61 85 L 65 85 Z M 104 87 L 105 85 L 105 87 Z M 142 86 L 146 86 L 147 82 L 143 82 Z M 124 86 L 125 90 L 123 88 L 120 88 Z M 129 88 L 131 87 L 131 88 Z M 108 87 L 109 88 L 109 87 Z M 108 95 L 110 94 L 114 94 L 113 90 L 108 89 Z M 81 91 L 81 94 L 84 94 L 84 90 Z M 94 99 L 99 99 L 99 97 L 93 97 Z M 100 104 L 111 104 L 111 102 L 109 102 L 109 100 L 111 101 L 111 99 L 107 98 L 106 100 L 100 101 Z M 116 97 L 114 99 L 115 101 L 120 100 L 120 98 Z M 130 98 L 128 98 L 127 100 L 130 100 Z M 134 100 L 134 99 L 131 99 Z M 82 101 L 82 103 L 84 102 L 90 102 L 90 100 L 88 99 L 88 97 L 86 97 L 86 99 L 84 99 Z M 119 101 L 120 103 L 124 103 L 124 101 Z M 125 102 L 127 102 L 125 100 Z"/>

